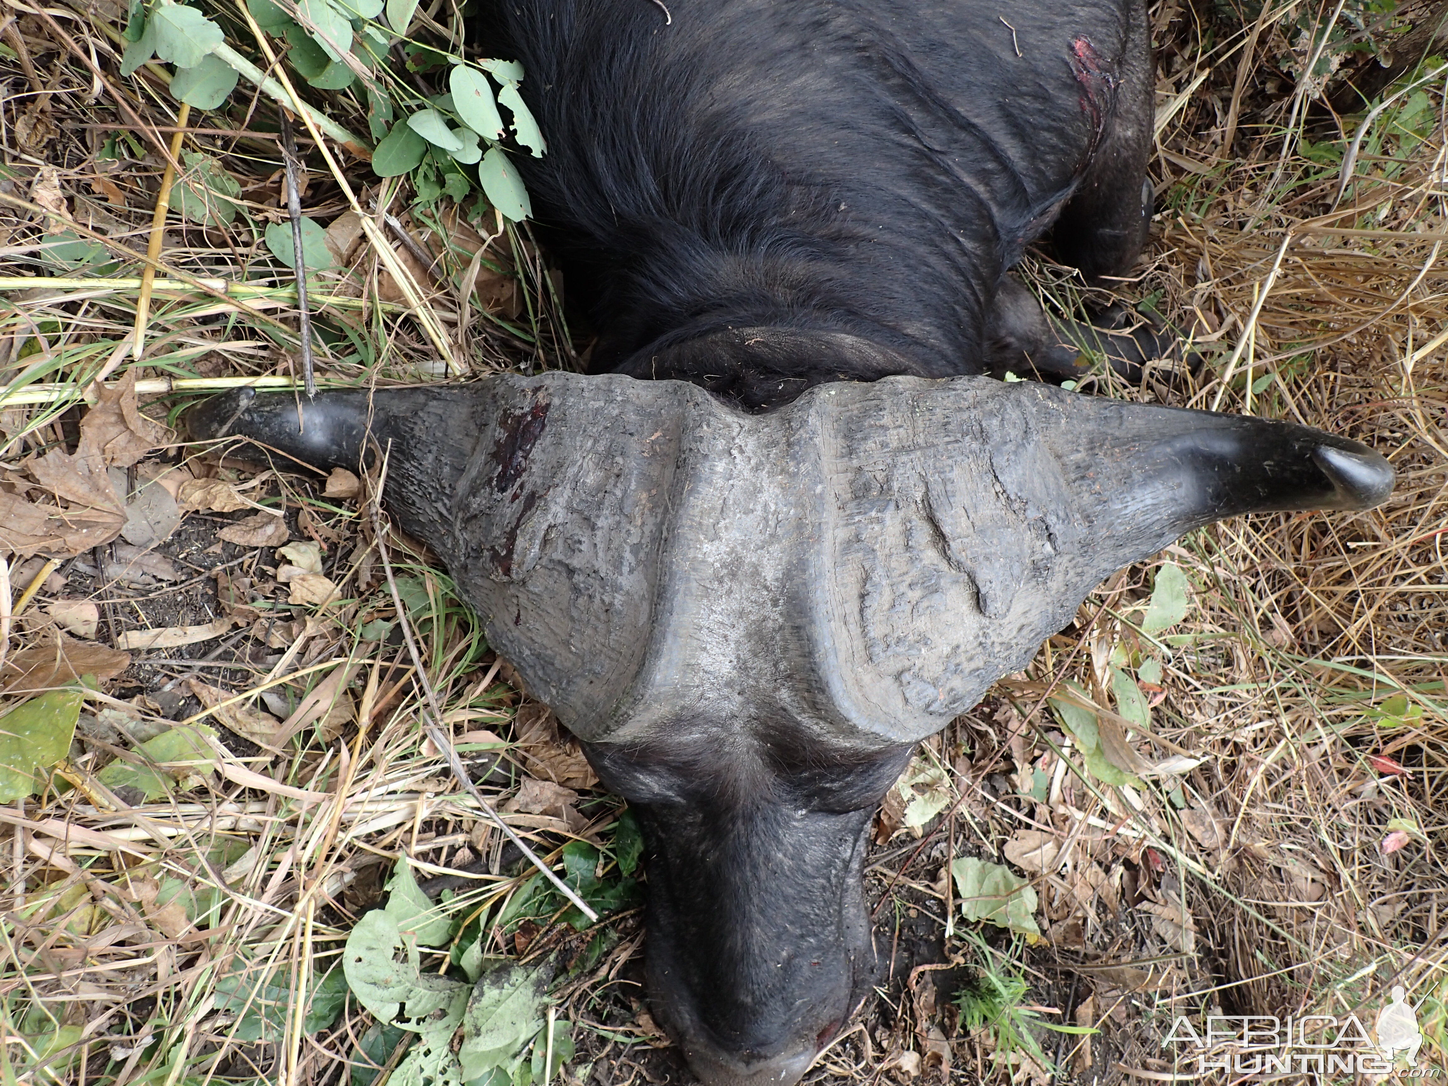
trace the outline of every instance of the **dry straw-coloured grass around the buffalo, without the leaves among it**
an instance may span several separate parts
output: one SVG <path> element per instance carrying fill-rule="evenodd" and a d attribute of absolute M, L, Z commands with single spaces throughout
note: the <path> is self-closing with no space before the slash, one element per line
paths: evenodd
<path fill-rule="evenodd" d="M 1410 1002 L 1428 1001 L 1419 1011 L 1425 1053 L 1445 1058 L 1448 103 L 1438 74 L 1365 129 L 1361 113 L 1328 114 L 1295 72 L 1315 51 L 1319 61 L 1351 61 L 1337 42 L 1316 48 L 1321 28 L 1344 7 L 1287 4 L 1280 19 L 1264 16 L 1255 36 L 1257 12 L 1242 20 L 1225 7 L 1174 0 L 1154 12 L 1163 71 L 1153 169 L 1163 210 L 1151 262 L 1122 284 L 1121 297 L 1150 297 L 1192 330 L 1203 366 L 1186 390 L 1148 382 L 1115 394 L 1348 434 L 1393 460 L 1397 491 L 1371 513 L 1242 518 L 1182 540 L 1163 560 L 1186 571 L 1193 607 L 1160 634 L 1142 631 L 1160 562 L 1124 571 L 1025 673 L 1002 681 L 927 746 L 924 757 L 943 770 L 935 786 L 953 807 L 919 838 L 899 830 L 869 873 L 898 976 L 821 1060 L 814 1082 L 938 1079 L 943 1066 L 967 1082 L 1050 1080 L 1040 1063 L 1008 1058 L 998 1035 L 960 1025 L 950 996 L 986 970 L 1022 976 L 1030 995 L 1016 1005 L 1037 1006 L 1044 1021 L 1098 1030 L 1040 1034 L 1063 1080 L 1195 1074 L 1184 1051 L 1173 1060 L 1160 1045 L 1177 1015 L 1199 1022 L 1213 1012 L 1351 1011 L 1367 1021 L 1393 985 Z M 129 130 L 109 145 L 117 158 L 98 152 L 117 127 L 174 127 L 177 106 L 162 78 L 116 74 L 119 10 L 45 10 L 0 0 L 0 42 L 9 48 L 0 56 L 0 368 L 10 397 L 0 410 L 0 487 L 10 491 L 28 478 L 26 456 L 75 447 L 83 392 L 113 363 L 113 376 L 135 374 L 149 414 L 171 420 L 198 391 L 236 376 L 285 381 L 300 365 L 292 279 L 259 240 L 261 226 L 285 220 L 281 161 L 266 135 L 275 114 L 265 101 L 251 113 L 191 119 L 204 127 L 187 136 L 185 149 L 216 156 L 236 177 L 233 203 L 243 214 L 230 226 L 168 222 L 145 356 L 138 363 L 122 353 L 142 294 L 135 258 L 151 236 L 168 136 Z M 1329 94 L 1337 87 L 1329 83 Z M 362 130 L 339 96 L 332 104 Z M 1231 155 L 1222 152 L 1226 127 L 1235 132 Z M 1360 132 L 1344 185 L 1344 156 Z M 304 155 L 308 148 L 303 140 Z M 343 187 L 320 158 L 307 161 L 316 172 L 304 211 L 333 222 L 349 206 Z M 361 177 L 358 168 L 353 184 Z M 473 374 L 573 365 L 557 284 L 527 237 L 492 237 L 475 261 L 484 235 L 497 233 L 491 214 L 469 235 L 446 217 L 455 214 L 446 201 L 410 210 L 398 182 L 359 188 L 358 198 L 369 213 L 394 214 L 397 226 L 388 227 L 385 261 L 363 239 L 350 249 L 349 271 L 314 285 L 323 384 L 436 378 L 439 337 Z M 64 210 L 72 230 L 83 239 L 94 230 L 109 255 L 97 249 L 90 264 L 56 264 L 38 248 L 55 227 L 26 204 Z M 104 266 L 116 258 L 127 264 Z M 398 261 L 414 279 L 416 306 L 388 274 Z M 178 284 L 182 277 L 203 277 L 203 287 Z M 1057 304 L 1076 304 L 1064 269 L 1037 262 L 1028 277 Z M 219 295 L 217 278 L 245 279 L 246 291 Z M 639 1002 L 636 912 L 605 919 L 605 937 L 591 946 L 552 922 L 559 902 L 539 899 L 500 925 L 531 870 L 505 853 L 476 801 L 421 738 L 426 698 L 405 646 L 387 636 L 398 614 L 369 500 L 327 497 L 285 465 L 249 487 L 255 471 L 226 456 L 155 449 L 139 481 L 146 465 L 175 465 L 284 511 L 292 540 L 320 544 L 334 601 L 292 602 L 295 591 L 277 584 L 284 559 L 217 542 L 219 530 L 255 508 L 203 508 L 162 546 L 178 581 L 146 584 L 135 555 L 117 562 L 106 547 L 84 550 L 61 565 L 64 586 L 45 582 L 23 614 L 0 615 L 12 663 L 33 663 L 28 650 L 55 644 L 48 617 L 59 599 L 96 602 L 104 644 L 132 630 L 237 617 L 236 631 L 220 640 L 136 652 L 129 669 L 96 683 L 51 783 L 0 809 L 9 833 L 0 889 L 9 1067 L 20 1080 L 114 1086 L 381 1086 L 381 1077 L 356 1073 L 369 1058 L 387 1064 L 395 1038 L 381 1038 L 355 1002 L 320 1030 L 285 1008 L 306 1005 L 300 996 L 378 904 L 379 876 L 405 854 L 418 877 L 481 862 L 442 905 L 466 921 L 456 947 L 482 925 L 489 953 L 536 957 L 562 947 L 575 961 L 557 992 L 557 1016 L 578 1024 L 579 1056 L 566 1077 L 601 1086 L 678 1077 L 678 1063 L 654 1050 L 662 1041 Z M 138 485 L 135 472 L 126 488 Z M 565 843 L 598 846 L 598 870 L 618 888 L 617 801 L 589 788 L 546 715 L 502 682 L 426 555 L 400 540 L 387 549 L 443 720 L 482 791 L 500 805 L 511 798 L 514 808 L 530 779 L 579 792 L 540 794 L 505 817 L 552 863 Z M 35 565 L 12 563 L 12 599 Z M 220 588 L 232 586 L 224 601 L 217 568 Z M 1114 669 L 1154 702 L 1150 737 L 1131 734 L 1135 757 L 1189 757 L 1192 769 L 1129 792 L 1079 772 L 1072 737 L 1044 695 L 1076 682 L 1109 728 L 1127 714 Z M 271 724 L 229 714 L 230 702 L 206 708 L 193 681 L 219 689 L 213 699 L 269 710 Z M 307 702 L 308 694 L 319 696 Z M 110 763 L 143 760 L 135 747 L 177 721 L 217 727 L 219 741 L 190 767 L 165 770 L 153 798 L 97 776 Z M 1112 760 L 1131 759 L 1118 752 Z M 1041 843 L 1056 857 L 1024 870 L 1040 893 L 1045 940 L 1019 953 L 1006 953 L 996 931 L 973 941 L 976 925 L 959 919 L 943 877 L 950 859 L 998 860 L 1005 850 L 1019 862 Z M 255 1001 L 243 1008 L 245 999 L 227 995 L 237 975 L 274 985 L 277 1009 L 259 1037 L 246 1027 L 256 1022 L 246 1014 Z M 358 1047 L 363 1037 L 376 1041 L 368 1057 Z"/>

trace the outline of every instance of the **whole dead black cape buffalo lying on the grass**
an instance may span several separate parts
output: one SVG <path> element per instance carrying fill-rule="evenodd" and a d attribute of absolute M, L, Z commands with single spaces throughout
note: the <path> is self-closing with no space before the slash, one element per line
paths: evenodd
<path fill-rule="evenodd" d="M 1286 423 L 1002 384 L 1072 368 L 1008 269 L 1150 222 L 1140 0 L 494 0 L 517 165 L 594 372 L 211 401 L 385 500 L 627 796 L 657 1018 L 789 1086 L 875 976 L 866 830 L 912 746 L 1102 578 L 1219 517 L 1383 501 Z"/>

